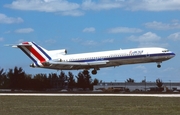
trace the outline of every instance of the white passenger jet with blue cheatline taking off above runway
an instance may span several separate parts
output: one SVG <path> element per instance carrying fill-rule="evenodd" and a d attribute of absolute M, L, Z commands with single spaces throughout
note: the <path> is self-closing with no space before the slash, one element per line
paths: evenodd
<path fill-rule="evenodd" d="M 126 64 L 157 63 L 161 67 L 163 61 L 175 56 L 165 48 L 147 47 L 119 49 L 111 51 L 67 54 L 66 49 L 46 50 L 35 42 L 23 42 L 12 47 L 20 48 L 32 61 L 30 67 L 55 70 L 83 70 L 84 74 L 97 74 L 97 70 L 105 67 L 116 67 Z"/>

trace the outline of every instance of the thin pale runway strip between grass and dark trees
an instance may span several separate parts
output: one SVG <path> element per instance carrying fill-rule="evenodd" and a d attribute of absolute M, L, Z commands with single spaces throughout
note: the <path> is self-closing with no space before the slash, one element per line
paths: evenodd
<path fill-rule="evenodd" d="M 114 96 L 114 97 L 180 97 L 180 94 L 69 94 L 69 93 L 0 93 L 0 96 Z"/>

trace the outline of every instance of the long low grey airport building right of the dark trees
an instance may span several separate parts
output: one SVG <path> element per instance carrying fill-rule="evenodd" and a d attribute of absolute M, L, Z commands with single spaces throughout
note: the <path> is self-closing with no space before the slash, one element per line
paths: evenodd
<path fill-rule="evenodd" d="M 93 86 L 93 91 L 159 91 L 156 82 L 103 82 Z M 162 91 L 180 91 L 180 82 L 163 83 Z"/>

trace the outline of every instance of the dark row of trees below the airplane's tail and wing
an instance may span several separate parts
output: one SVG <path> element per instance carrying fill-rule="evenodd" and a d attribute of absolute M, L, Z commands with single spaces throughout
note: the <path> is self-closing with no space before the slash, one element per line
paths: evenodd
<path fill-rule="evenodd" d="M 79 72 L 78 75 L 73 75 L 72 72 L 68 72 L 66 75 L 63 71 L 59 75 L 56 73 L 31 75 L 26 74 L 21 67 L 14 67 L 7 72 L 0 69 L 0 89 L 11 89 L 12 91 L 73 90 L 73 88 L 92 90 L 93 85 L 98 83 L 98 79 L 92 79 L 89 73 L 83 74 L 83 72 Z"/>

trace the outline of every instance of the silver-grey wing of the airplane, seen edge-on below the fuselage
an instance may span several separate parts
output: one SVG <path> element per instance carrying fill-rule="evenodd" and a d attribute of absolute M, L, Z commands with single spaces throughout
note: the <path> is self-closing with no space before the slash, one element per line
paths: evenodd
<path fill-rule="evenodd" d="M 59 69 L 90 69 L 106 65 L 108 60 L 101 61 L 92 61 L 92 62 L 57 62 L 57 61 L 48 61 L 43 63 L 47 65 L 47 68 L 59 68 Z"/>

